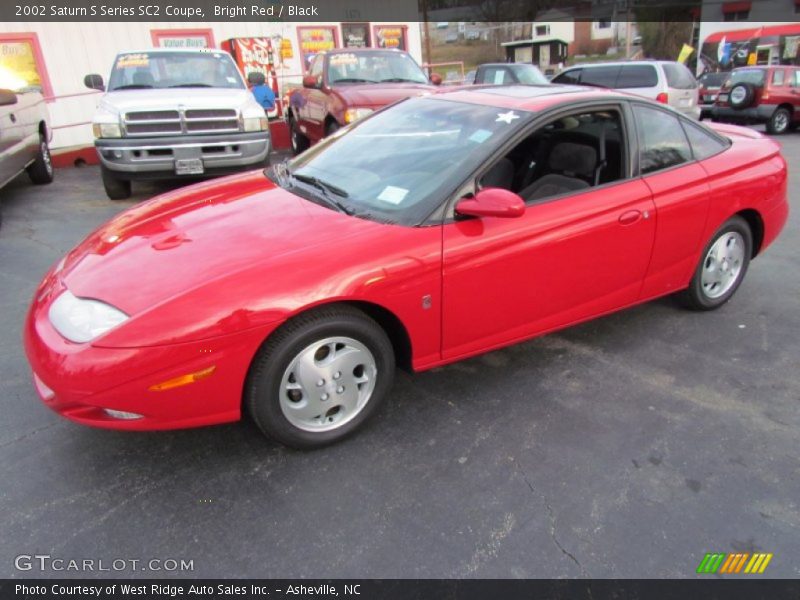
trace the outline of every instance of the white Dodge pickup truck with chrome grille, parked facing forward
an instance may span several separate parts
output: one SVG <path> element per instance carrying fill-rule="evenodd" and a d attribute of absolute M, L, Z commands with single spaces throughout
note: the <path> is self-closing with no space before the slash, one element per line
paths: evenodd
<path fill-rule="evenodd" d="M 197 178 L 269 164 L 267 116 L 233 59 L 219 50 L 117 55 L 93 118 L 103 186 L 112 200 L 136 179 Z"/>

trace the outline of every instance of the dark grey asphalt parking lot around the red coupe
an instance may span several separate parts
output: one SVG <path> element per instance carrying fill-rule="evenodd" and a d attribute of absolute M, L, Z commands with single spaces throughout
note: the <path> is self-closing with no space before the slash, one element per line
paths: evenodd
<path fill-rule="evenodd" d="M 691 577 L 706 552 L 800 576 L 800 133 L 793 212 L 734 299 L 667 298 L 431 372 L 360 435 L 287 450 L 249 422 L 120 433 L 38 400 L 22 323 L 45 271 L 129 202 L 95 167 L 0 191 L 0 577 Z M 124 274 L 120 274 L 124 277 Z M 40 572 L 18 555 L 176 559 Z"/>

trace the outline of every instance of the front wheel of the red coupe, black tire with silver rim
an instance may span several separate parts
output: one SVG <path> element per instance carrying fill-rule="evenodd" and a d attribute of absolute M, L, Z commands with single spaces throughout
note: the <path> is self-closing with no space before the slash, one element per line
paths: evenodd
<path fill-rule="evenodd" d="M 375 414 L 394 369 L 394 350 L 380 325 L 352 307 L 322 308 L 267 340 L 250 368 L 245 404 L 269 437 L 293 448 L 320 448 Z"/>

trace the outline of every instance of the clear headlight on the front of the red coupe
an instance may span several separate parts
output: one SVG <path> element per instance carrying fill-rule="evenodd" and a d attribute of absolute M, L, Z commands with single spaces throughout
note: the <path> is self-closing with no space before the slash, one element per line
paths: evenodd
<path fill-rule="evenodd" d="M 65 290 L 50 305 L 50 323 L 71 342 L 90 342 L 128 320 L 121 310 L 99 300 L 78 298 Z"/>

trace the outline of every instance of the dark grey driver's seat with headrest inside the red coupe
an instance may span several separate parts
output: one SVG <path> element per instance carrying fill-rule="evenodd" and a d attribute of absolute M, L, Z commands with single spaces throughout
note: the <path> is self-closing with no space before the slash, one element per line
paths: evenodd
<path fill-rule="evenodd" d="M 559 142 L 550 150 L 547 164 L 549 172 L 520 192 L 526 202 L 591 187 L 597 150 L 585 144 Z"/>

